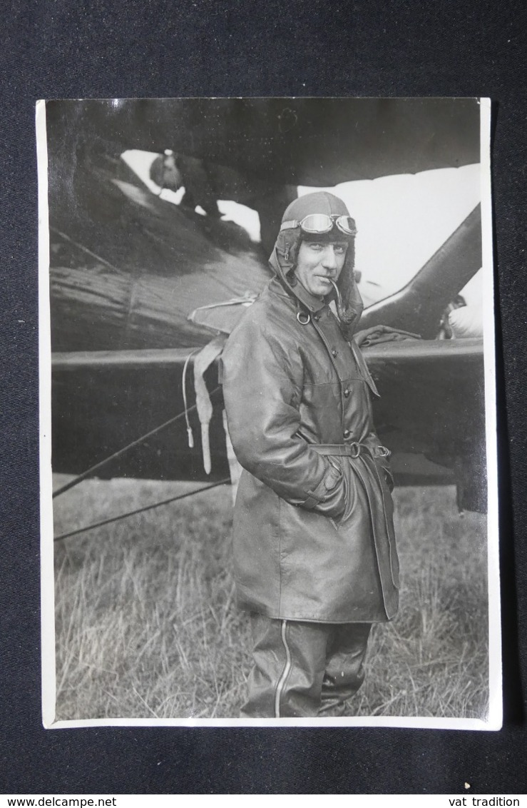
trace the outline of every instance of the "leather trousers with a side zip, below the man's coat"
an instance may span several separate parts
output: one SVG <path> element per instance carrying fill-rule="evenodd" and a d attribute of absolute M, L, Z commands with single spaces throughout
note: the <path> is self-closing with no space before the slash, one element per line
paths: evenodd
<path fill-rule="evenodd" d="M 341 716 L 364 680 L 370 623 L 251 616 L 254 667 L 242 718 Z"/>

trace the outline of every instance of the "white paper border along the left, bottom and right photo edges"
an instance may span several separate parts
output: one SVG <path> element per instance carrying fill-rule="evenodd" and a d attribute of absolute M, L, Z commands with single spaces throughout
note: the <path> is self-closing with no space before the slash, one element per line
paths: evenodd
<path fill-rule="evenodd" d="M 169 100 L 169 99 L 167 99 Z M 479 99 L 480 179 L 483 248 L 483 354 L 487 451 L 487 558 L 489 610 L 489 712 L 487 720 L 371 716 L 360 718 L 101 718 L 56 721 L 56 659 L 53 574 L 51 322 L 49 299 L 48 148 L 46 102 L 36 103 L 39 210 L 39 339 L 40 339 L 40 553 L 42 721 L 46 729 L 100 726 L 280 726 L 404 727 L 430 730 L 500 730 L 503 721 L 500 629 L 499 503 L 496 438 L 496 340 L 491 209 L 491 99 Z"/>

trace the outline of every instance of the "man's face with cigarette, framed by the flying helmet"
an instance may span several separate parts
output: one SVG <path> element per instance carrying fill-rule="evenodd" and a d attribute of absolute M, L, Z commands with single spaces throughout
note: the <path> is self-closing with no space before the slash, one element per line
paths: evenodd
<path fill-rule="evenodd" d="M 324 297 L 333 290 L 330 280 L 338 280 L 346 257 L 348 242 L 302 241 L 295 276 L 303 288 L 315 297 Z"/>

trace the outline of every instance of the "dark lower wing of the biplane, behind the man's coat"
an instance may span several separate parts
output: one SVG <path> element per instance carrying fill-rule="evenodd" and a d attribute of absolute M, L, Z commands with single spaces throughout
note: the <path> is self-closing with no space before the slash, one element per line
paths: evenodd
<path fill-rule="evenodd" d="M 183 366 L 190 353 L 162 349 L 55 354 L 53 470 L 82 473 L 182 413 Z M 364 354 L 381 393 L 374 402 L 374 421 L 380 439 L 393 452 L 395 482 L 458 482 L 465 492 L 465 507 L 480 509 L 485 434 L 482 340 L 409 339 L 379 344 Z M 185 379 L 189 409 L 194 405 L 191 367 L 190 361 Z M 218 386 L 216 365 L 207 371 L 206 381 L 209 391 Z M 203 470 L 195 411 L 188 416 L 194 448 L 188 446 L 182 417 L 98 476 L 194 481 L 228 477 L 221 392 L 213 402 L 210 477 Z"/>

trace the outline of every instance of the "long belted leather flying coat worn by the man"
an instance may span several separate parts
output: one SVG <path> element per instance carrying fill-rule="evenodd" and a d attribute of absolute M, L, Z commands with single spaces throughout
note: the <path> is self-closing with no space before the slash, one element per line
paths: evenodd
<path fill-rule="evenodd" d="M 391 475 L 372 421 L 378 393 L 328 301 L 304 291 L 300 308 L 276 250 L 271 263 L 278 278 L 223 354 L 228 429 L 244 469 L 238 600 L 282 620 L 390 620 L 399 562 Z"/>

